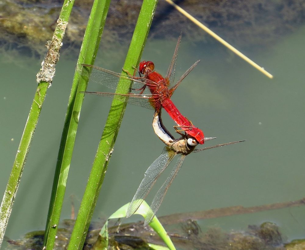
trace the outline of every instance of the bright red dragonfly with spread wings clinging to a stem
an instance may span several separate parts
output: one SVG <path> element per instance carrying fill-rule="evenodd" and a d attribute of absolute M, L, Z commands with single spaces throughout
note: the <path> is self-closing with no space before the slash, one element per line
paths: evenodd
<path fill-rule="evenodd" d="M 176 122 L 177 126 L 174 126 L 176 132 L 187 133 L 192 136 L 200 144 L 204 143 L 204 135 L 202 130 L 195 127 L 190 120 L 183 116 L 174 103 L 170 100 L 170 97 L 179 86 L 181 81 L 188 75 L 189 72 L 199 63 L 200 60 L 195 62 L 177 81 L 174 82 L 174 72 L 176 67 L 176 59 L 178 55 L 178 49 L 181 41 L 181 35 L 178 38 L 178 42 L 174 51 L 173 58 L 167 69 L 165 78 L 163 78 L 158 72 L 154 71 L 154 64 L 150 61 L 140 62 L 139 74 L 140 77 L 131 75 L 127 71 L 127 74 L 116 73 L 107 69 L 102 69 L 93 65 L 81 64 L 77 66 L 77 70 L 81 76 L 101 83 L 109 88 L 115 89 L 119 80 L 131 85 L 131 93 L 129 94 L 115 94 L 104 92 L 84 92 L 88 94 L 100 95 L 112 97 L 123 102 L 128 102 L 141 107 L 146 107 L 159 111 L 163 107 L 170 117 Z M 143 77 L 142 77 L 143 75 Z M 170 87 L 170 88 L 169 88 Z M 127 98 L 128 97 L 128 98 Z"/>

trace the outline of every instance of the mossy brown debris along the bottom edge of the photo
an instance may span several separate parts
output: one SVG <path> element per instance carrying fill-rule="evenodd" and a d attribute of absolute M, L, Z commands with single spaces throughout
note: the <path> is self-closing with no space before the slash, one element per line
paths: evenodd
<path fill-rule="evenodd" d="M 74 220 L 65 220 L 63 228 L 58 229 L 54 249 L 65 249 L 69 243 Z M 119 228 L 119 230 L 118 230 Z M 179 231 L 180 229 L 180 231 Z M 175 232 L 173 232 L 173 230 Z M 83 249 L 92 249 L 98 241 L 100 229 L 88 231 Z M 159 236 L 150 227 L 142 224 L 132 223 L 117 225 L 108 228 L 109 247 L 119 249 L 151 249 L 149 243 L 164 245 Z M 203 250 L 295 250 L 305 249 L 305 240 L 294 240 L 284 244 L 282 234 L 278 226 L 272 222 L 250 225 L 245 231 L 231 230 L 229 233 L 220 228 L 211 227 L 206 232 L 194 221 L 186 221 L 168 231 L 174 245 L 180 249 L 203 249 Z M 27 233 L 20 240 L 9 240 L 7 249 L 41 249 L 43 246 L 44 231 Z"/>

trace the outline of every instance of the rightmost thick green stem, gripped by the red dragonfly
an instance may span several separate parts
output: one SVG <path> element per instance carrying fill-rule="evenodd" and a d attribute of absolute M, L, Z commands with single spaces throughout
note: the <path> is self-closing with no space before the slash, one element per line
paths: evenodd
<path fill-rule="evenodd" d="M 127 53 L 123 68 L 132 72 L 132 66 L 138 65 L 146 38 L 152 23 L 152 18 L 156 9 L 157 0 L 144 0 L 138 17 L 135 31 Z M 124 73 L 124 72 L 122 72 Z M 118 84 L 117 93 L 127 93 L 129 86 Z M 84 192 L 81 206 L 77 215 L 74 229 L 70 238 L 68 249 L 82 249 L 88 227 L 92 218 L 99 191 L 104 180 L 111 153 L 118 130 L 122 122 L 126 104 L 118 100 L 113 100 L 105 129 L 100 140 L 97 153 L 93 162 L 86 190 Z"/>

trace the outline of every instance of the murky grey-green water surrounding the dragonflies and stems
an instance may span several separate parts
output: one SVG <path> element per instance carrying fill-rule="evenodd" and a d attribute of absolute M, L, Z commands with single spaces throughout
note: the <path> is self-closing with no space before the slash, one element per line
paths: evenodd
<path fill-rule="evenodd" d="M 258 206 L 304 197 L 304 34 L 305 27 L 265 50 L 243 51 L 273 74 L 272 80 L 217 42 L 196 47 L 182 38 L 176 79 L 197 59 L 202 61 L 174 93 L 174 103 L 205 136 L 217 136 L 206 146 L 247 141 L 188 155 L 157 215 L 235 205 Z M 165 74 L 174 47 L 175 41 L 148 40 L 142 58 L 155 62 L 156 70 Z M 116 48 L 108 53 L 100 55 L 108 59 L 106 62 L 100 59 L 98 65 L 119 72 L 124 54 L 121 60 L 112 61 L 111 53 L 116 55 Z M 13 60 L 6 58 L 0 62 L 2 193 L 36 90 L 35 75 L 40 66 L 39 60 Z M 60 58 L 9 220 L 6 231 L 9 238 L 45 227 L 75 64 Z M 88 90 L 109 91 L 93 84 Z M 107 98 L 85 97 L 62 219 L 70 217 L 70 195 L 74 196 L 76 210 L 79 206 L 110 104 Z M 131 201 L 146 168 L 162 152 L 164 145 L 151 127 L 152 114 L 151 110 L 127 107 L 95 209 L 95 220 L 109 216 Z M 165 112 L 163 120 L 168 129 L 174 125 Z M 148 202 L 161 182 L 156 183 Z M 289 239 L 304 237 L 304 207 L 205 220 L 200 225 L 203 230 L 210 226 L 242 229 L 263 221 L 277 223 Z"/>

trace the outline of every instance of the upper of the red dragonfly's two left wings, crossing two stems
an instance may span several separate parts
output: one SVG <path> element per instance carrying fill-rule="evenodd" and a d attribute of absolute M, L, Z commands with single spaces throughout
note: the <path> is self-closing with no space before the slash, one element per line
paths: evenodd
<path fill-rule="evenodd" d="M 145 86 L 149 86 L 151 88 L 154 88 L 156 86 L 155 82 L 152 82 L 148 79 L 138 76 L 129 76 L 127 74 L 120 74 L 94 65 L 79 64 L 76 66 L 76 70 L 77 72 L 79 72 L 82 78 L 90 79 L 90 81 L 102 84 L 114 90 L 117 88 L 119 80 L 121 80 L 127 86 L 130 86 L 132 81 L 131 89 L 135 90 L 142 90 L 143 88 L 145 88 Z M 139 91 L 133 92 L 139 93 Z M 149 94 L 149 88 L 146 88 L 143 93 Z"/>

